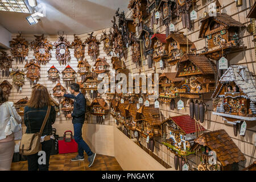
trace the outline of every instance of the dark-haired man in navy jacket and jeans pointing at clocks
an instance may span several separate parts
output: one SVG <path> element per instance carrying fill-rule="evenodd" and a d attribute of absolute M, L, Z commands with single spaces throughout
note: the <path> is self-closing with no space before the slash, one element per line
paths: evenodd
<path fill-rule="evenodd" d="M 61 96 L 67 97 L 67 98 L 73 98 L 74 99 L 74 109 L 72 114 L 68 114 L 67 118 L 72 118 L 72 123 L 74 126 L 74 138 L 76 143 L 78 144 L 78 152 L 79 155 L 77 155 L 75 158 L 71 159 L 72 161 L 76 160 L 84 160 L 84 151 L 88 155 L 89 160 L 89 166 L 91 167 L 96 154 L 93 153 L 90 150 L 90 147 L 86 142 L 82 139 L 82 125 L 84 124 L 85 120 L 85 109 L 86 109 L 86 100 L 84 95 L 79 92 L 80 86 L 79 84 L 72 83 L 69 86 L 69 90 L 71 94 L 65 94 L 64 92 L 61 92 Z"/>

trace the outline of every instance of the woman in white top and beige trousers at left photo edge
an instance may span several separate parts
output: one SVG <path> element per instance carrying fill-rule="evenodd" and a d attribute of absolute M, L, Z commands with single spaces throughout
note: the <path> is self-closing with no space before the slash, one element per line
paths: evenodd
<path fill-rule="evenodd" d="M 0 88 L 0 171 L 9 171 L 11 169 L 11 161 L 14 154 L 14 134 L 6 136 L 5 129 L 9 122 L 11 110 L 16 122 L 21 123 L 13 102 L 7 102 L 7 97 L 2 88 Z"/>

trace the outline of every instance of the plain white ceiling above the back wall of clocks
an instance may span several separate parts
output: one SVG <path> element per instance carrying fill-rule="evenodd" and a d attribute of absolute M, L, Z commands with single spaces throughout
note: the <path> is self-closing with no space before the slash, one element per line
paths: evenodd
<path fill-rule="evenodd" d="M 46 5 L 46 17 L 30 26 L 29 14 L 0 11 L 0 24 L 11 33 L 83 34 L 112 26 L 115 11 L 127 12 L 129 0 L 37 0 Z"/>

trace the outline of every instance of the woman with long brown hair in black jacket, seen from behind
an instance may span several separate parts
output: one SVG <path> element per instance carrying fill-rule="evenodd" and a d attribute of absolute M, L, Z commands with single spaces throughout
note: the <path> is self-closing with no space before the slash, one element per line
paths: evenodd
<path fill-rule="evenodd" d="M 47 108 L 51 106 L 48 90 L 43 85 L 36 85 L 32 90 L 32 96 L 28 105 L 24 108 L 24 123 L 27 126 L 26 133 L 37 133 L 40 131 L 44 118 L 46 117 Z M 51 133 L 52 125 L 55 122 L 56 111 L 51 106 L 51 111 L 44 126 L 41 137 L 42 151 L 46 152 L 46 163 L 39 164 L 38 153 L 27 156 L 28 171 L 48 171 L 49 157 L 51 153 Z"/>

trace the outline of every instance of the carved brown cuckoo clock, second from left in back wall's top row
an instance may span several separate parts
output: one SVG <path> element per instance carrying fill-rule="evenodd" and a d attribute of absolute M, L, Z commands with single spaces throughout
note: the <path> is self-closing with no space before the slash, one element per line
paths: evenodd
<path fill-rule="evenodd" d="M 44 38 L 44 34 L 35 36 L 35 40 L 31 42 L 31 48 L 34 51 L 34 56 L 37 64 L 43 64 L 46 65 L 46 63 L 49 63 L 49 60 L 51 60 L 51 49 L 52 44 L 48 42 L 46 38 Z"/>

